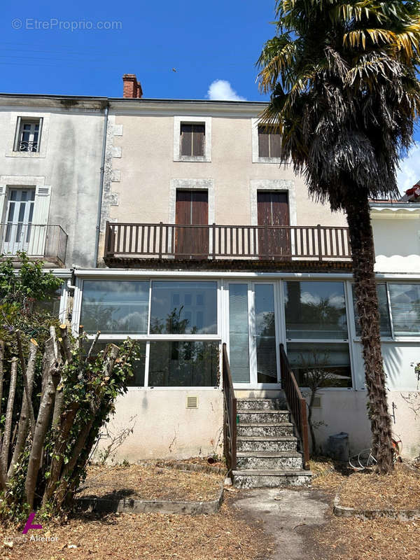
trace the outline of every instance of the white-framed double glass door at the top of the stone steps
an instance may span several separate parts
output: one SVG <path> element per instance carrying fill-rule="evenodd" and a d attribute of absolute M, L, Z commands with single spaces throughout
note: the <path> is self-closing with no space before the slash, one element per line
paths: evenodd
<path fill-rule="evenodd" d="M 273 283 L 229 283 L 232 381 L 249 388 L 279 383 Z"/>

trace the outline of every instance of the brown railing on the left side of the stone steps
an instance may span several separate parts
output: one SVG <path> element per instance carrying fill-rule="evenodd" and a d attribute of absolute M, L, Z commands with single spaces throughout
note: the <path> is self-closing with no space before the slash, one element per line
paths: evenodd
<path fill-rule="evenodd" d="M 226 343 L 223 343 L 223 452 L 228 470 L 237 466 L 237 400 L 233 389 L 232 375 Z"/>

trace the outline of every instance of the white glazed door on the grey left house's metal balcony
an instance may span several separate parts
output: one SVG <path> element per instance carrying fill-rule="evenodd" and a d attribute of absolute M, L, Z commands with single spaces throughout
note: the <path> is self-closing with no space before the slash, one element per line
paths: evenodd
<path fill-rule="evenodd" d="M 10 189 L 3 253 L 27 251 L 34 215 L 35 189 Z"/>

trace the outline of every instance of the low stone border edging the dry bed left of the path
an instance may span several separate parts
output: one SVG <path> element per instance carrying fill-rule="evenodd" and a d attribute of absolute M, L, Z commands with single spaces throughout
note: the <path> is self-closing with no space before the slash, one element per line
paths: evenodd
<path fill-rule="evenodd" d="M 223 484 L 216 500 L 208 502 L 184 502 L 181 500 L 107 500 L 104 498 L 76 498 L 76 507 L 95 512 L 162 513 L 202 515 L 217 513 L 223 502 Z"/>

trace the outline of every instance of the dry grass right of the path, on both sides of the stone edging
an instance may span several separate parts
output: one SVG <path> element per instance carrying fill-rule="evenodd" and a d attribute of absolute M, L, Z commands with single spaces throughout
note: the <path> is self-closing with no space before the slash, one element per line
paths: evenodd
<path fill-rule="evenodd" d="M 323 468 L 325 464 L 322 462 L 314 470 Z M 324 470 L 324 474 L 314 480 L 313 486 L 329 493 L 331 498 L 338 492 L 342 505 L 370 509 L 388 508 L 390 505 L 395 509 L 407 509 L 415 504 L 419 507 L 420 477 L 405 465 L 397 465 L 395 473 L 386 476 L 346 469 Z M 419 534 L 419 520 L 384 518 L 364 521 L 331 515 L 327 523 L 310 535 L 309 548 L 316 553 L 308 557 L 316 560 L 417 560 Z"/>

